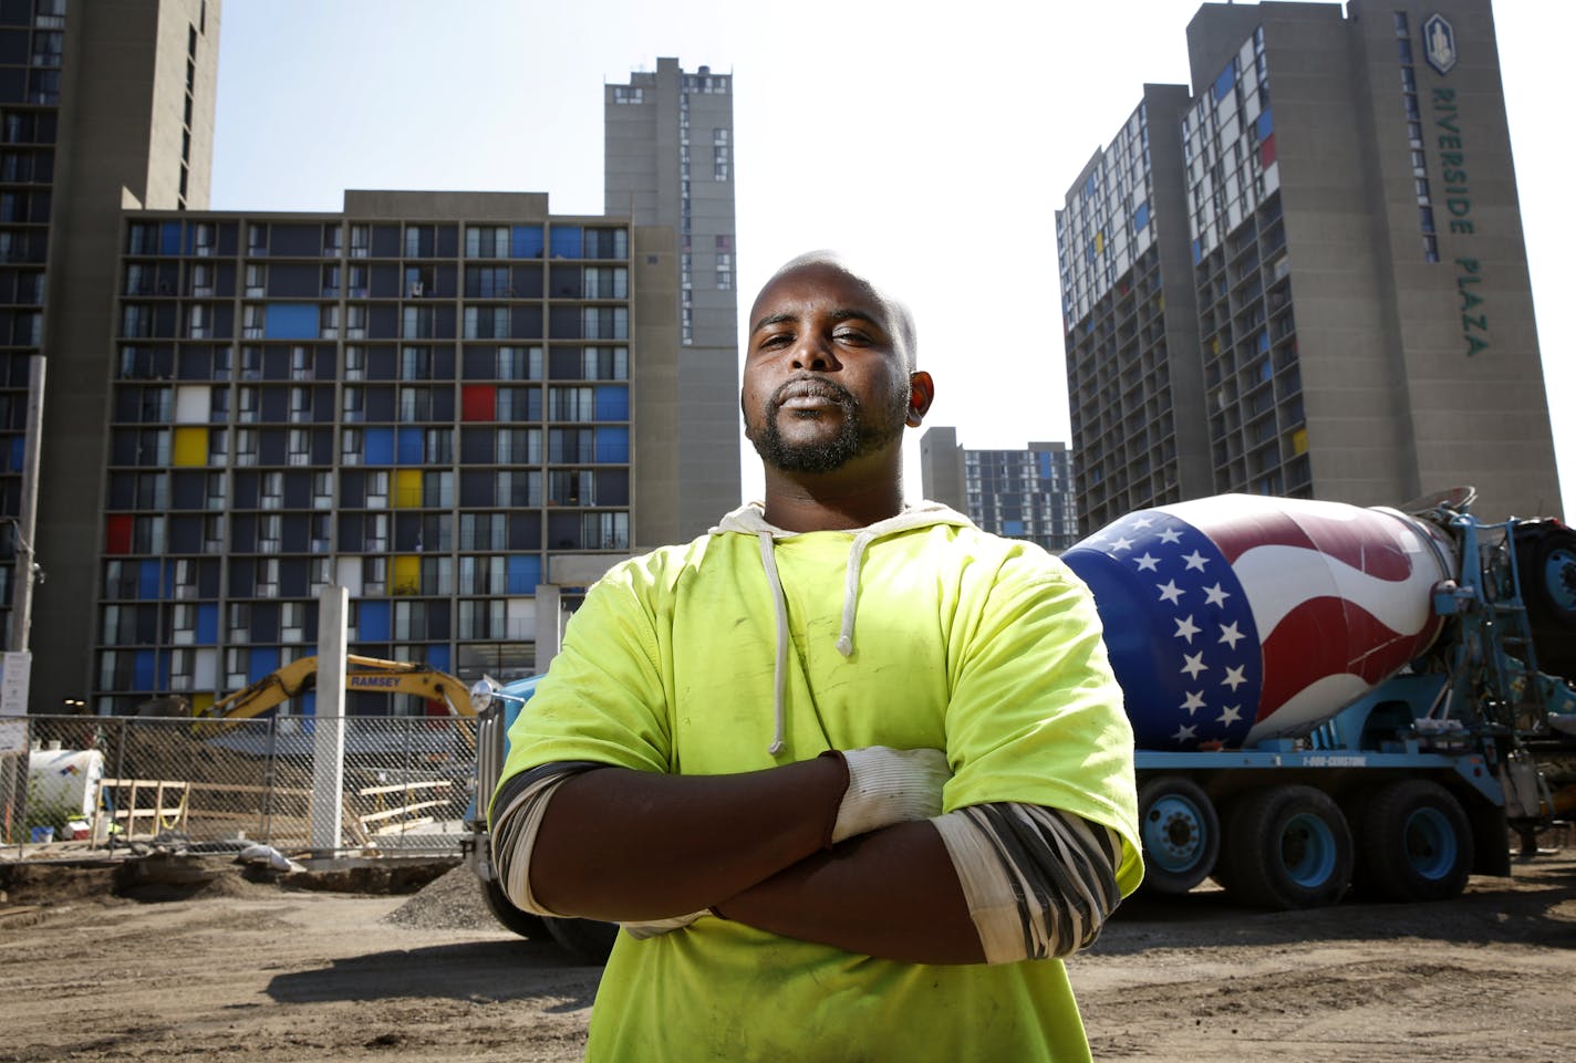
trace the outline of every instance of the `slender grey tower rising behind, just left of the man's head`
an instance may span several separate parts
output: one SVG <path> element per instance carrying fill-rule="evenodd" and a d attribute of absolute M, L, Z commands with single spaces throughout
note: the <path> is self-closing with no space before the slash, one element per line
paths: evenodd
<path fill-rule="evenodd" d="M 638 520 L 703 534 L 739 504 L 739 310 L 733 205 L 733 76 L 678 60 L 604 90 L 605 209 L 676 233 L 673 375 L 643 398 L 637 444 L 667 482 Z M 657 542 L 643 535 L 641 542 Z"/>

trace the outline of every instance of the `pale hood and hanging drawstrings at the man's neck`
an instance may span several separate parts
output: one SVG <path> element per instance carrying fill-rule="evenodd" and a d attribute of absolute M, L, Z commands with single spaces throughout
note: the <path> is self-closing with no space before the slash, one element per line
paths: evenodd
<path fill-rule="evenodd" d="M 837 635 L 838 654 L 843 657 L 853 657 L 854 654 L 854 616 L 859 609 L 859 572 L 864 565 L 865 550 L 870 543 L 886 535 L 895 535 L 916 528 L 930 528 L 933 524 L 972 528 L 974 521 L 963 513 L 942 506 L 941 502 L 927 501 L 919 502 L 917 506 L 905 507 L 903 512 L 895 517 L 876 521 L 875 524 L 838 529 L 834 532 L 849 537 L 848 569 L 843 580 L 843 622 Z M 772 732 L 772 745 L 769 748 L 769 753 L 777 756 L 783 750 L 783 735 L 786 731 L 785 688 L 788 679 L 788 600 L 783 595 L 782 578 L 777 575 L 775 543 L 779 539 L 793 539 L 810 532 L 793 532 L 777 528 L 775 524 L 768 523 L 766 507 L 761 502 L 745 502 L 717 521 L 717 526 L 712 528 L 709 534 L 755 535 L 761 546 L 761 569 L 766 572 L 766 583 L 772 589 L 772 605 L 777 608 L 777 663 L 772 671 L 772 710 L 775 728 Z"/>

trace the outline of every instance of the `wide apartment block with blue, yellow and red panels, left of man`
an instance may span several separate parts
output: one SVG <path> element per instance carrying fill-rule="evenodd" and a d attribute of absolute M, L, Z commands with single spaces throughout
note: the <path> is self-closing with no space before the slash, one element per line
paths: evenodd
<path fill-rule="evenodd" d="M 202 709 L 315 652 L 329 584 L 353 654 L 528 674 L 553 557 L 635 545 L 670 231 L 541 194 L 348 192 L 125 233 L 99 712 Z"/>

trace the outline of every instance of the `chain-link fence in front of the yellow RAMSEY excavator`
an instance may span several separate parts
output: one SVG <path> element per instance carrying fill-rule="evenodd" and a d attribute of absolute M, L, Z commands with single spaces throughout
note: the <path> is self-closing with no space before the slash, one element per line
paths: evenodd
<path fill-rule="evenodd" d="M 470 718 L 25 720 L 28 751 L 0 757 L 0 836 L 46 846 L 47 855 L 161 836 L 285 852 L 454 854 L 474 789 Z M 318 761 L 323 728 L 344 728 L 337 794 L 333 757 Z"/>

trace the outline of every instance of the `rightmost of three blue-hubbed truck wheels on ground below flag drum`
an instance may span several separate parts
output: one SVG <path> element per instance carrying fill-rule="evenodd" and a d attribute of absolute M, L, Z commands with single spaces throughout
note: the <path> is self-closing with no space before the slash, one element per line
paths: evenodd
<path fill-rule="evenodd" d="M 1363 880 L 1390 901 L 1445 901 L 1472 874 L 1472 828 L 1450 791 L 1403 780 L 1374 794 L 1363 816 Z"/>

